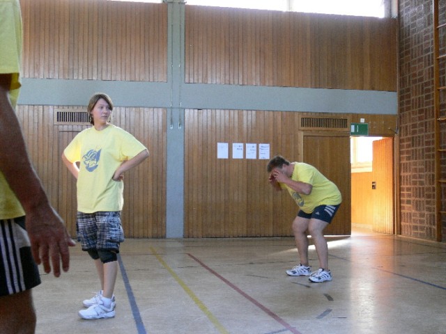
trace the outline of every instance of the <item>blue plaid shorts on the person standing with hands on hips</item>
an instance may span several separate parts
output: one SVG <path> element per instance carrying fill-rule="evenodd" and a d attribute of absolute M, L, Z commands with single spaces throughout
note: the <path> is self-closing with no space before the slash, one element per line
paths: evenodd
<path fill-rule="evenodd" d="M 119 244 L 124 241 L 121 212 L 77 212 L 77 240 L 82 250 L 106 249 L 119 253 Z"/>

